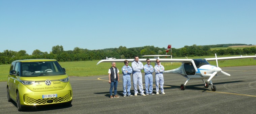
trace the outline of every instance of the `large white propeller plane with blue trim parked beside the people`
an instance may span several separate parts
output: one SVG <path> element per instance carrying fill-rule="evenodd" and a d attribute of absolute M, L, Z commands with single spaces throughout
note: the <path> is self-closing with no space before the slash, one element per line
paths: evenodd
<path fill-rule="evenodd" d="M 187 78 L 187 81 L 184 84 L 181 84 L 181 90 L 185 90 L 185 85 L 190 79 L 201 79 L 204 82 L 204 88 L 209 87 L 212 85 L 212 91 L 216 91 L 216 87 L 212 83 L 212 78 L 217 76 L 218 73 L 222 73 L 224 75 L 230 76 L 230 74 L 221 70 L 218 66 L 218 60 L 230 60 L 230 59 L 244 59 L 244 58 L 254 58 L 255 56 L 235 56 L 235 57 L 219 57 L 215 54 L 215 58 L 205 58 L 205 59 L 160 59 L 159 56 L 166 56 L 166 55 L 146 55 L 143 57 L 154 56 L 154 59 L 150 59 L 151 61 L 155 61 L 159 59 L 161 62 L 181 62 L 182 65 L 179 68 L 166 70 L 163 73 L 174 73 L 180 74 Z M 168 56 L 168 55 L 167 55 Z M 134 59 L 115 59 L 115 60 L 100 60 L 97 64 L 101 62 L 124 62 L 124 60 L 134 61 Z M 210 65 L 207 61 L 215 61 L 217 66 Z M 139 61 L 146 61 L 146 59 L 139 59 Z M 208 82 L 205 82 L 203 79 L 208 79 Z"/>

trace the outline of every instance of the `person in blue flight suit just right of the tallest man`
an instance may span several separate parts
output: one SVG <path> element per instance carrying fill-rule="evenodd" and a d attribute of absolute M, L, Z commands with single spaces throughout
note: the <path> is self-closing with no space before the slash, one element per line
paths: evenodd
<path fill-rule="evenodd" d="M 146 95 L 155 95 L 153 94 L 153 75 L 154 72 L 153 66 L 150 64 L 150 60 L 146 59 L 147 64 L 144 65 L 144 72 L 145 72 L 145 89 Z"/>

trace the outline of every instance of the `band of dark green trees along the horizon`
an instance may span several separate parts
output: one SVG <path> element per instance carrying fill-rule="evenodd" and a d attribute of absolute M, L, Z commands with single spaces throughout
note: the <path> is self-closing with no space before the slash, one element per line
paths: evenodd
<path fill-rule="evenodd" d="M 237 45 L 237 44 L 236 44 Z M 243 44 L 246 45 L 246 44 Z M 223 46 L 223 45 L 219 45 Z M 184 46 L 183 48 L 172 49 L 172 57 L 194 57 L 194 56 L 214 56 L 215 53 L 218 55 L 251 55 L 256 54 L 256 48 L 244 48 L 244 49 L 220 49 L 211 50 L 216 45 L 209 46 Z M 10 64 L 15 60 L 22 59 L 56 59 L 57 61 L 92 61 L 102 60 L 106 57 L 114 57 L 117 59 L 132 59 L 135 55 L 143 58 L 143 55 L 165 55 L 166 49 L 154 46 L 144 46 L 136 48 L 126 48 L 120 46 L 119 48 L 108 48 L 100 50 L 88 50 L 75 47 L 73 50 L 64 51 L 63 46 L 53 46 L 50 53 L 41 52 L 40 50 L 34 50 L 32 55 L 27 54 L 25 50 L 18 52 L 11 50 L 4 50 L 0 53 L 0 64 Z M 171 55 L 169 51 L 167 55 Z"/>

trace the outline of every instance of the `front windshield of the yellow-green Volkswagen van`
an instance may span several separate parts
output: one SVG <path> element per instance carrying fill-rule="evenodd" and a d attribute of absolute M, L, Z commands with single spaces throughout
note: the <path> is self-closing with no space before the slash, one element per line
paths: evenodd
<path fill-rule="evenodd" d="M 22 76 L 50 76 L 50 75 L 64 75 L 64 69 L 57 61 L 45 62 L 22 62 Z"/>

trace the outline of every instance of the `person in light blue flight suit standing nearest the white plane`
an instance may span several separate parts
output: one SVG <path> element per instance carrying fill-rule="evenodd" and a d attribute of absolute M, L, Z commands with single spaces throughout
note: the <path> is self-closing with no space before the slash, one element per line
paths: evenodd
<path fill-rule="evenodd" d="M 159 94 L 159 82 L 160 82 L 160 88 L 162 94 L 164 93 L 164 76 L 163 76 L 163 71 L 164 71 L 164 66 L 160 64 L 160 60 L 156 60 L 157 65 L 154 67 L 155 72 L 156 72 L 156 94 Z"/>

